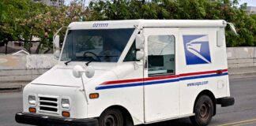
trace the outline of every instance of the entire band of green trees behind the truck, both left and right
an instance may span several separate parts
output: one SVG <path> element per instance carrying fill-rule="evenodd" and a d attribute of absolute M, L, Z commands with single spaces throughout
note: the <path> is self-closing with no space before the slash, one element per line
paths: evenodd
<path fill-rule="evenodd" d="M 238 0 L 98 0 L 83 7 L 79 0 L 56 8 L 31 0 L 0 1 L 0 46 L 9 41 L 24 42 L 30 52 L 33 37 L 39 38 L 36 53 L 52 49 L 58 28 L 73 21 L 130 19 L 227 20 L 239 35 L 226 29 L 228 46 L 256 46 L 256 16 Z M 66 28 L 60 32 L 64 38 Z"/>

